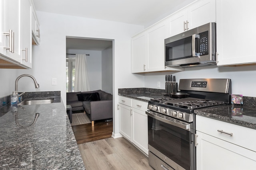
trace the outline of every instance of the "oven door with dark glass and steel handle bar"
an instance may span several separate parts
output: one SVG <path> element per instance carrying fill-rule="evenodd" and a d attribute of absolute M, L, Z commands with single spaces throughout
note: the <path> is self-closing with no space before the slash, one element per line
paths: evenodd
<path fill-rule="evenodd" d="M 194 170 L 193 123 L 178 121 L 152 111 L 146 111 L 146 114 L 148 115 L 148 149 L 155 155 L 152 159 L 149 154 L 149 164 L 155 169 L 161 169 L 163 164 L 156 167 L 156 162 L 160 161 L 156 160 L 158 157 L 175 170 Z"/>

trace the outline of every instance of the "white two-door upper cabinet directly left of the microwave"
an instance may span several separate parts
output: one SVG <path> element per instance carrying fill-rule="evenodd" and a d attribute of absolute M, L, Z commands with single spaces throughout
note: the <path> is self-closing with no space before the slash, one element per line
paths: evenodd
<path fill-rule="evenodd" d="M 132 37 L 132 73 L 184 70 L 164 66 L 166 38 L 167 20 L 162 20 Z"/>

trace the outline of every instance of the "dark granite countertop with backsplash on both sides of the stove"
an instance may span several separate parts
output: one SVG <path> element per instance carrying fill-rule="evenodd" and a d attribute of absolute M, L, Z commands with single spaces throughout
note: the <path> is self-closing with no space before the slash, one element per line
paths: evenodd
<path fill-rule="evenodd" d="M 148 100 L 139 98 L 145 96 L 148 98 L 163 97 L 164 90 L 151 88 L 122 88 L 118 89 L 118 95 L 128 98 L 134 98 L 148 102 Z M 256 129 L 256 98 L 243 96 L 243 106 L 216 106 L 195 109 L 194 113 L 205 117 L 234 123 L 244 127 Z"/>

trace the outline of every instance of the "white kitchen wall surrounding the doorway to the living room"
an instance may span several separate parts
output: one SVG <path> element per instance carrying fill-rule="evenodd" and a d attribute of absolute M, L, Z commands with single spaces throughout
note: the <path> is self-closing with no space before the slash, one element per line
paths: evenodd
<path fill-rule="evenodd" d="M 117 110 L 118 88 L 143 87 L 144 78 L 131 74 L 131 37 L 144 27 L 113 21 L 94 20 L 90 18 L 37 12 L 40 21 L 40 45 L 33 47 L 33 68 L 19 70 L 20 73 L 32 74 L 40 88 L 35 89 L 30 82 L 20 80 L 21 91 L 60 90 L 64 104 L 66 103 L 66 36 L 114 39 L 114 125 L 113 131 L 119 133 L 119 116 Z M 91 55 L 90 55 L 91 57 Z M 6 72 L 11 74 L 10 71 Z M 12 75 L 11 75 L 12 76 Z M 9 80 L 9 76 L 0 77 L 1 85 Z M 16 78 L 16 77 L 15 77 Z M 13 82 L 15 80 L 11 80 Z M 57 78 L 57 85 L 52 86 L 52 78 Z M 3 80 L 3 81 L 2 81 Z M 30 81 L 30 80 L 29 80 Z M 31 80 L 32 81 L 32 80 Z M 13 86 L 10 82 L 9 86 Z M 33 85 L 33 84 L 32 84 Z M 10 94 L 8 88 L 8 94 Z"/>

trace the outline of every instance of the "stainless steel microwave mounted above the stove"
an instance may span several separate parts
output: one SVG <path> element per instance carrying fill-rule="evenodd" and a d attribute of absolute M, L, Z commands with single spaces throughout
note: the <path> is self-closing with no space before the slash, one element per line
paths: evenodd
<path fill-rule="evenodd" d="M 165 66 L 216 64 L 216 23 L 207 23 L 164 40 Z"/>

